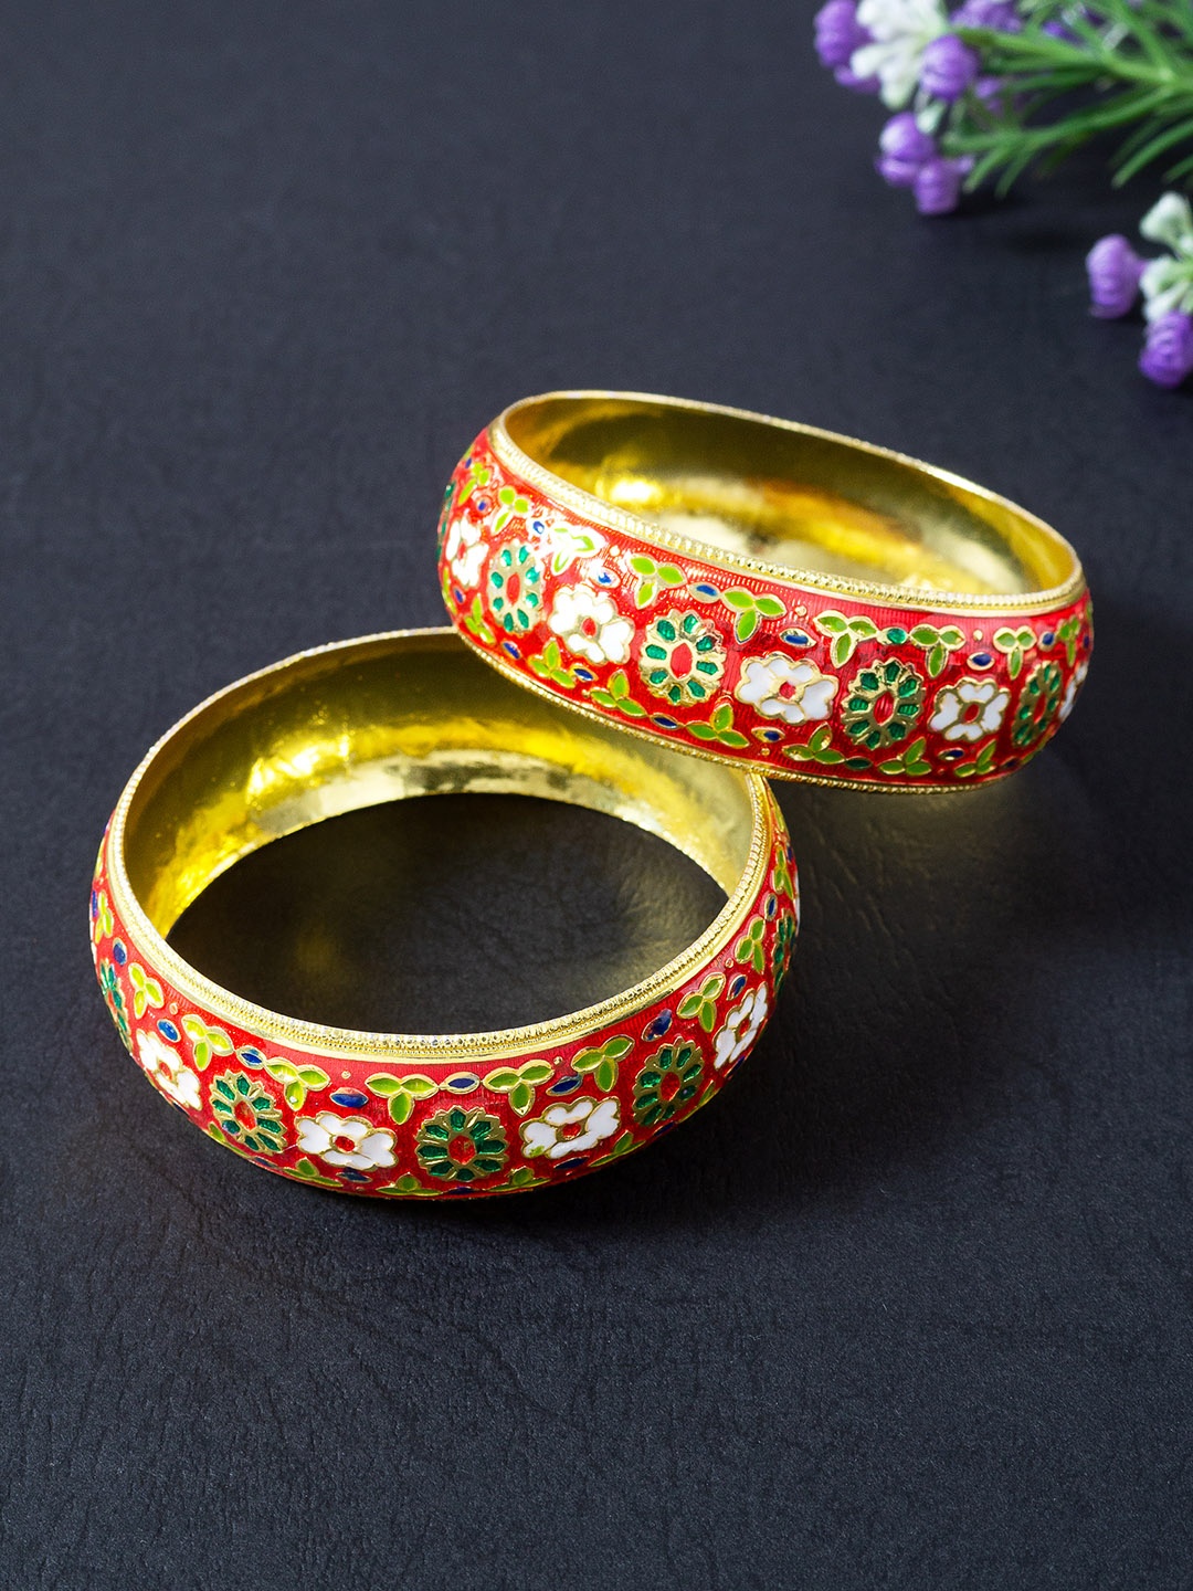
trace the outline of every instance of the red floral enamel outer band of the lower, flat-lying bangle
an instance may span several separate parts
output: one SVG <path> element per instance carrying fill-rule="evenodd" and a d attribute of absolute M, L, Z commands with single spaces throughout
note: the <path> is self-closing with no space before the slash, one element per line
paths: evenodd
<path fill-rule="evenodd" d="M 121 920 L 107 846 L 95 889 L 107 888 L 110 908 L 91 921 L 95 972 L 153 1087 L 213 1142 L 267 1171 L 377 1198 L 547 1187 L 682 1122 L 757 1041 L 799 921 L 791 842 L 765 786 L 762 799 L 756 883 L 716 955 L 601 1026 L 498 1064 L 449 1061 L 429 1045 L 409 1063 L 313 1053 L 197 1006 Z M 134 1015 L 134 993 L 146 988 L 151 999 Z"/>

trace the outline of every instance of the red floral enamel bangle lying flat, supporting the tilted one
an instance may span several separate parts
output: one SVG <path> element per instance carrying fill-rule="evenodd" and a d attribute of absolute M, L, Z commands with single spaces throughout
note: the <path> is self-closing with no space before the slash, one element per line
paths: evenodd
<path fill-rule="evenodd" d="M 501 1033 L 293 1020 L 216 986 L 169 945 L 202 889 L 269 840 L 461 791 L 612 813 L 689 854 L 727 902 L 624 994 Z M 103 998 L 159 1093 L 269 1171 L 415 1198 L 560 1182 L 690 1115 L 751 1050 L 795 924 L 791 846 L 764 780 L 562 713 L 450 630 L 302 652 L 196 708 L 129 781 L 91 896 Z"/>

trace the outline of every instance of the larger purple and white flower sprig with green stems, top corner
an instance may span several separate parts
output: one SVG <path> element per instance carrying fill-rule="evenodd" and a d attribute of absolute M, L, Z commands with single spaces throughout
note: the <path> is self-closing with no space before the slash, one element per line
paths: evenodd
<path fill-rule="evenodd" d="M 1126 181 L 1161 158 L 1193 175 L 1190 0 L 827 0 L 816 49 L 837 81 L 896 115 L 878 172 L 923 215 L 954 210 L 962 188 L 1005 191 L 1107 132 Z"/>

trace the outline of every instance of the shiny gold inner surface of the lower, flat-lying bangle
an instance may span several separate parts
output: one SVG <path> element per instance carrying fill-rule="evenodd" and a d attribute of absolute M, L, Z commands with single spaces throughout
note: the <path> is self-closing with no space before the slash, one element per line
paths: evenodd
<path fill-rule="evenodd" d="M 670 840 L 727 896 L 751 854 L 748 778 L 568 713 L 433 630 L 291 659 L 185 719 L 129 799 L 129 885 L 165 936 L 213 878 L 283 834 L 466 791 L 624 818 Z"/>

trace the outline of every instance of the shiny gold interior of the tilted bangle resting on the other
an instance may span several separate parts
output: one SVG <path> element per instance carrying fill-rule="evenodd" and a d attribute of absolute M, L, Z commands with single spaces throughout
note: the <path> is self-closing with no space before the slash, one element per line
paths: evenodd
<path fill-rule="evenodd" d="M 531 463 L 671 536 L 784 570 L 1024 595 L 1080 576 L 1042 520 L 943 471 L 808 426 L 625 393 L 554 393 L 498 422 Z"/>

